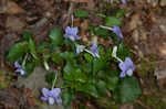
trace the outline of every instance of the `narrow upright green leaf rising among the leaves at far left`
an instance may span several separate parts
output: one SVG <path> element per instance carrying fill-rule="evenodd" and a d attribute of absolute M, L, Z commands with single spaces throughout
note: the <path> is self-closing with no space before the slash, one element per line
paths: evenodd
<path fill-rule="evenodd" d="M 34 41 L 32 39 L 29 39 L 29 48 L 30 48 L 30 53 L 32 54 L 32 56 L 35 59 L 38 59 L 37 51 L 35 51 L 35 44 L 34 44 Z"/>

